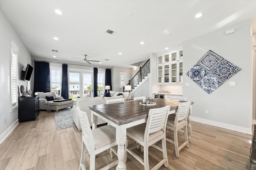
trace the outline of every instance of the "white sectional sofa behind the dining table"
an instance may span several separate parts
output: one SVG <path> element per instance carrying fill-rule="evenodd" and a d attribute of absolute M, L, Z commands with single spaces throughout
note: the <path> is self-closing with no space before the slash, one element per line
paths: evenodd
<path fill-rule="evenodd" d="M 120 95 L 120 96 L 117 96 L 118 93 L 116 93 L 116 96 L 114 96 L 115 92 L 113 92 L 113 91 L 110 94 L 112 94 L 112 96 L 110 96 L 110 97 L 102 97 L 102 96 L 98 96 L 95 98 L 86 97 L 86 98 L 78 98 L 76 100 L 76 105 L 79 106 L 82 111 L 85 111 L 87 113 L 87 116 L 88 116 L 88 119 L 90 122 L 90 126 L 92 126 L 92 114 L 91 114 L 91 110 L 89 109 L 89 106 L 98 105 L 98 104 L 106 104 L 106 99 L 111 99 L 111 98 L 125 98 L 126 99 L 129 96 L 129 93 L 127 93 L 127 92 L 122 92 L 122 95 Z M 81 131 L 80 120 L 79 120 L 78 115 L 75 112 L 73 112 L 73 120 L 74 120 L 74 123 L 76 124 L 78 131 Z M 102 119 L 98 118 L 97 125 L 104 124 L 104 123 L 106 123 L 106 122 L 103 121 Z"/>

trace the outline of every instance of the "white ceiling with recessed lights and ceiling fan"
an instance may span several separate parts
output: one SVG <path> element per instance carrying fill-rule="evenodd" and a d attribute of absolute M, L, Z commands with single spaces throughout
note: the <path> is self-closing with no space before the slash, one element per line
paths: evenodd
<path fill-rule="evenodd" d="M 256 33 L 256 0 L 0 0 L 0 8 L 35 59 L 56 55 L 56 62 L 72 63 L 87 54 L 99 67 L 132 67 L 150 53 L 248 19 Z"/>

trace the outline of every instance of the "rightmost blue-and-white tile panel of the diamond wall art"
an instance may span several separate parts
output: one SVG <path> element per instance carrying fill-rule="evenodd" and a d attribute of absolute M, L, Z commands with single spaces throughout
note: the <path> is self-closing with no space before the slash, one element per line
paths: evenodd
<path fill-rule="evenodd" d="M 240 70 L 241 68 L 238 66 L 230 63 L 229 61 L 223 60 L 212 70 L 212 73 L 225 82 Z"/>

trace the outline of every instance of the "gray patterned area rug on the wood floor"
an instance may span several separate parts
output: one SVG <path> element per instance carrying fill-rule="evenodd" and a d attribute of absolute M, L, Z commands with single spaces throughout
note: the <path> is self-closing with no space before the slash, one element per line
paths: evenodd
<path fill-rule="evenodd" d="M 57 130 L 75 126 L 71 108 L 55 111 L 54 116 Z"/>

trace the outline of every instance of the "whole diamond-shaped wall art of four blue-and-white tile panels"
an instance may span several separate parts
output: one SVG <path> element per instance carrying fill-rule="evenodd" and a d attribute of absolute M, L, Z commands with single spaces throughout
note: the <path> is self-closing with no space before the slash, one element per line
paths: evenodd
<path fill-rule="evenodd" d="M 186 74 L 210 94 L 240 70 L 209 50 Z"/>

